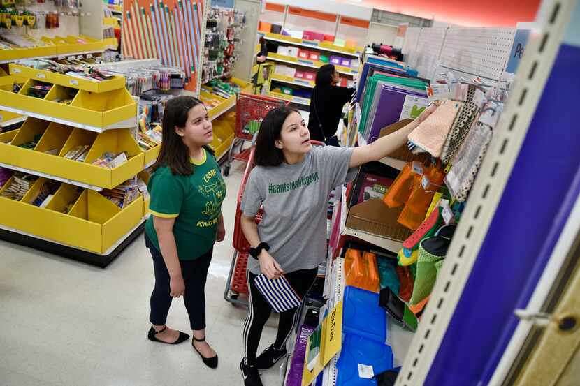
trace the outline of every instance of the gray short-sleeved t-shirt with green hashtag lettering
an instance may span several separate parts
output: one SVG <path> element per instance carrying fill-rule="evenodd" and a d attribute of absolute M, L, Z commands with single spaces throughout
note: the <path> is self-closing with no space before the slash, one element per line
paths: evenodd
<path fill-rule="evenodd" d="M 261 242 L 285 273 L 313 269 L 326 258 L 326 214 L 333 188 L 356 176 L 349 172 L 353 148 L 314 147 L 302 163 L 256 166 L 242 198 L 245 216 L 256 216 Z M 248 269 L 260 273 L 258 260 L 249 257 Z"/>

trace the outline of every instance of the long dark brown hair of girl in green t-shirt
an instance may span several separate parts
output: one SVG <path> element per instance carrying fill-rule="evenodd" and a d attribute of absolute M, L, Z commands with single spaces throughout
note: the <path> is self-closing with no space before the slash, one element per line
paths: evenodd
<path fill-rule="evenodd" d="M 170 99 L 165 105 L 163 114 L 163 130 L 161 149 L 159 156 L 153 165 L 153 170 L 157 170 L 163 165 L 171 169 L 173 175 L 189 176 L 194 173 L 194 166 L 191 165 L 189 148 L 183 143 L 182 138 L 175 133 L 175 127 L 184 128 L 187 123 L 189 110 L 203 102 L 193 96 L 177 96 Z M 203 145 L 203 148 L 212 156 L 212 149 Z"/>

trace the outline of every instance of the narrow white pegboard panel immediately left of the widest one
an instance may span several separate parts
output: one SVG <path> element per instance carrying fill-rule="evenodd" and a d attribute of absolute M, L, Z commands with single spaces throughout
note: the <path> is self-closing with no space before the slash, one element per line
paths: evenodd
<path fill-rule="evenodd" d="M 419 77 L 431 79 L 440 58 L 441 49 L 446 42 L 447 27 L 431 27 L 421 29 L 416 47 L 415 68 Z"/>

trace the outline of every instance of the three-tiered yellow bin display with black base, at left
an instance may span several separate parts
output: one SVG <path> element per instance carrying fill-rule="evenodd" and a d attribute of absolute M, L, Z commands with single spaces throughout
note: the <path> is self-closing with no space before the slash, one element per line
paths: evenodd
<path fill-rule="evenodd" d="M 20 129 L 0 134 L 0 164 L 40 177 L 22 200 L 0 198 L 0 211 L 5 214 L 0 219 L 0 238 L 105 267 L 143 230 L 142 196 L 121 209 L 99 193 L 144 168 L 145 154 L 132 134 L 137 103 L 128 95 L 122 78 L 103 81 L 99 89 L 94 82 L 66 75 L 17 65 L 10 70 L 13 75 L 15 71 L 19 76 L 34 77 L 22 90 L 38 82 L 38 75 L 53 83 L 44 99 L 27 96 L 26 91 L 18 95 L 0 91 L 3 110 L 27 115 Z M 71 96 L 70 105 L 51 100 Z M 112 114 L 105 118 L 107 111 Z M 34 148 L 19 146 L 31 140 L 36 141 Z M 89 147 L 84 161 L 64 157 L 79 145 Z M 112 169 L 92 165 L 106 151 L 124 151 L 128 161 Z M 44 207 L 31 205 L 48 180 L 61 182 L 54 197 Z M 72 206 L 65 209 L 67 204 Z"/>

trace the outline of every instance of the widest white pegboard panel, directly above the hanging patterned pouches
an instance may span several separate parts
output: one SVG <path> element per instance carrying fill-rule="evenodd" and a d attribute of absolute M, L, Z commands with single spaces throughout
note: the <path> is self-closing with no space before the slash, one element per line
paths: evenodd
<path fill-rule="evenodd" d="M 463 73 L 499 80 L 515 33 L 514 28 L 449 28 L 440 63 Z"/>

